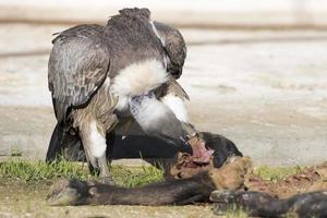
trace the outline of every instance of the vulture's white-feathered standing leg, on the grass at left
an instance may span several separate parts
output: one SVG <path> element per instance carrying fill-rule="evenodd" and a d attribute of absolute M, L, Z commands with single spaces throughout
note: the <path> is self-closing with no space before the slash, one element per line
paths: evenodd
<path fill-rule="evenodd" d="M 106 157 L 106 129 L 96 119 L 89 119 L 80 126 L 80 134 L 86 158 L 92 168 L 99 171 L 106 183 L 113 183 Z"/>

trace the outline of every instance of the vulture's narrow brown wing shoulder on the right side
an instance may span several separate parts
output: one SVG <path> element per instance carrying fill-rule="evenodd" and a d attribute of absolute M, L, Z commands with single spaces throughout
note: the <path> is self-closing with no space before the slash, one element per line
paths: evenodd
<path fill-rule="evenodd" d="M 166 55 L 169 60 L 167 71 L 174 77 L 179 78 L 182 75 L 184 61 L 186 58 L 186 46 L 182 34 L 174 27 L 164 23 L 154 22 L 154 25 L 159 34 Z"/>

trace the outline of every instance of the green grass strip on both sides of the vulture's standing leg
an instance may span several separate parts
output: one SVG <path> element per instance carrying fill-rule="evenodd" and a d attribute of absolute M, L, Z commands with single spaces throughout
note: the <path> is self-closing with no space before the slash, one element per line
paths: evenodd
<path fill-rule="evenodd" d="M 113 166 L 111 168 L 114 181 L 123 186 L 138 186 L 162 180 L 162 170 L 155 167 L 126 168 Z M 23 182 L 43 182 L 58 178 L 87 180 L 99 179 L 90 175 L 87 165 L 69 162 L 65 160 L 46 164 L 45 161 L 29 161 L 22 159 L 10 159 L 0 162 L 0 179 L 23 181 Z"/>

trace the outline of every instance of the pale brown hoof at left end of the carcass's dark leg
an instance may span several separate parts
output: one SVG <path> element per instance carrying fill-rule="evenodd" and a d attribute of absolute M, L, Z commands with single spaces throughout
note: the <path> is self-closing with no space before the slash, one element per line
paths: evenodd
<path fill-rule="evenodd" d="M 51 185 L 47 195 L 47 204 L 51 206 L 69 206 L 81 204 L 82 196 L 87 193 L 87 184 L 77 180 L 61 180 Z"/>

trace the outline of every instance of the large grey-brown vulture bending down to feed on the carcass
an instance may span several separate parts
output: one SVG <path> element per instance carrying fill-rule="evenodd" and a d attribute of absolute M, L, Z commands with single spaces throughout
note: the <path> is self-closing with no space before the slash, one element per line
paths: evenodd
<path fill-rule="evenodd" d="M 48 86 L 57 118 L 47 161 L 77 135 L 88 165 L 110 183 L 106 135 L 136 121 L 142 130 L 179 150 L 192 153 L 187 122 L 175 82 L 186 47 L 173 27 L 150 20 L 148 9 L 123 9 L 107 25 L 78 25 L 58 34 L 48 62 Z"/>

